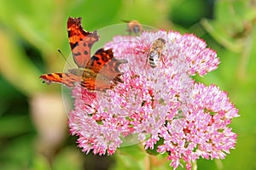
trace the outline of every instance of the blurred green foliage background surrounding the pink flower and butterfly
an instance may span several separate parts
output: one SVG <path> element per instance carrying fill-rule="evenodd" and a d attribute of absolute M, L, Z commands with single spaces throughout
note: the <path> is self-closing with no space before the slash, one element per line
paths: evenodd
<path fill-rule="evenodd" d="M 84 155 L 67 128 L 60 85 L 38 77 L 62 71 L 70 53 L 67 17 L 89 31 L 139 20 L 158 29 L 194 33 L 217 51 L 221 64 L 205 77 L 229 93 L 240 117 L 236 150 L 223 161 L 199 160 L 198 169 L 256 169 L 255 0 L 0 0 L 0 170 L 172 169 L 139 145 L 114 156 Z M 182 168 L 178 168 L 182 169 Z"/>

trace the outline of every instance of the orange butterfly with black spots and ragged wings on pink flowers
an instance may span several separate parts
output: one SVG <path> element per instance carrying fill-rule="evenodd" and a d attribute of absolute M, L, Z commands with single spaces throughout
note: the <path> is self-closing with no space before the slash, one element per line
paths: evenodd
<path fill-rule="evenodd" d="M 90 57 L 90 48 L 99 40 L 97 31 L 85 31 L 81 26 L 82 18 L 69 17 L 67 32 L 73 59 L 79 68 L 67 73 L 51 73 L 40 76 L 44 82 L 60 82 L 73 88 L 76 83 L 89 90 L 105 91 L 122 82 L 119 65 L 126 59 L 115 59 L 112 49 L 100 48 Z"/>

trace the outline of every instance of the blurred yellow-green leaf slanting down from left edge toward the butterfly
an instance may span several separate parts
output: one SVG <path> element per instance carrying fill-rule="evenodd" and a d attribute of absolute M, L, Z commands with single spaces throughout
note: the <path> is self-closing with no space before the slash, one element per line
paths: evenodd
<path fill-rule="evenodd" d="M 8 34 L 9 32 L 0 30 L 0 71 L 3 77 L 23 94 L 32 95 L 42 91 L 42 84 L 38 79 L 40 71 L 21 51 L 14 41 L 15 37 Z"/>

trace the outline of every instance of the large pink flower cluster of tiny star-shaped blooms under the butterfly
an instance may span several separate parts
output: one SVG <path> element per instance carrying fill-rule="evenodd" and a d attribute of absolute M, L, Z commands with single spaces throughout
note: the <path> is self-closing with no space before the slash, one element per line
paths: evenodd
<path fill-rule="evenodd" d="M 152 68 L 148 50 L 159 37 L 166 46 Z M 144 31 L 140 37 L 114 37 L 105 48 L 128 63 L 119 66 L 124 82 L 105 93 L 79 85 L 73 89 L 69 126 L 84 152 L 112 155 L 122 137 L 137 134 L 145 149 L 167 152 L 172 167 L 183 160 L 191 169 L 199 157 L 224 159 L 234 149 L 236 133 L 228 125 L 238 110 L 218 87 L 191 78 L 218 67 L 217 54 L 206 42 L 173 31 Z M 164 142 L 157 145 L 160 139 Z"/>

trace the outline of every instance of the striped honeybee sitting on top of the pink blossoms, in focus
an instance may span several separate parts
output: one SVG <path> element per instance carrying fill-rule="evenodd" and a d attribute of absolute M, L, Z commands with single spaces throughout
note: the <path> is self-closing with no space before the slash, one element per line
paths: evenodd
<path fill-rule="evenodd" d="M 161 59 L 162 52 L 166 47 L 166 40 L 159 37 L 151 45 L 151 48 L 148 52 L 147 62 L 154 68 L 158 65 L 159 60 Z"/>

